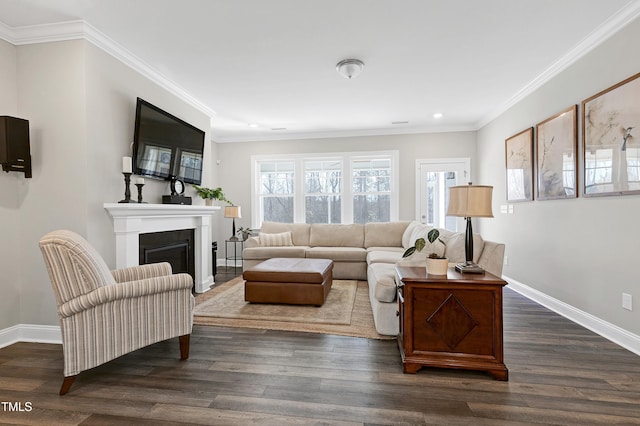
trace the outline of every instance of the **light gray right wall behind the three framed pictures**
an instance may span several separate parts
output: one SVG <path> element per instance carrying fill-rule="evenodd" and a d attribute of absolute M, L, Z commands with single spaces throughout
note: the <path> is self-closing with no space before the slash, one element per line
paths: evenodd
<path fill-rule="evenodd" d="M 495 186 L 494 205 L 506 204 L 505 139 L 640 72 L 638 40 L 640 20 L 478 132 L 480 180 Z M 581 138 L 580 130 L 579 170 L 583 167 Z M 498 214 L 482 224 L 483 236 L 506 244 L 509 264 L 504 274 L 640 335 L 640 274 L 635 269 L 640 196 L 580 196 L 514 207 L 513 215 Z M 634 296 L 633 312 L 622 309 L 623 292 Z"/>

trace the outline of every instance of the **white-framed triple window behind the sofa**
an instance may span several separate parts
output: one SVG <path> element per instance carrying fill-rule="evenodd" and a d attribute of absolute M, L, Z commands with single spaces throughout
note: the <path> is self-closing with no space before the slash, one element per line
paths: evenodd
<path fill-rule="evenodd" d="M 398 152 L 255 156 L 253 226 L 398 217 Z"/>

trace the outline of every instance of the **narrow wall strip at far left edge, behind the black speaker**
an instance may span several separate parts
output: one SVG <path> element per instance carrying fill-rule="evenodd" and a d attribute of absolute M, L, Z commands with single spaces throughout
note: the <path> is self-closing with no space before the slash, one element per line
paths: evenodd
<path fill-rule="evenodd" d="M 16 48 L 0 40 L 0 115 L 18 115 Z M 20 210 L 21 189 L 25 185 L 23 173 L 0 172 L 0 330 L 15 324 L 20 316 L 20 271 L 16 244 L 16 226 Z"/>

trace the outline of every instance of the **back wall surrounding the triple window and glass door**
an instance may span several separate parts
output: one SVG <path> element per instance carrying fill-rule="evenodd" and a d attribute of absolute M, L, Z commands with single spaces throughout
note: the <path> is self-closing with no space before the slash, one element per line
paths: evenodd
<path fill-rule="evenodd" d="M 242 219 L 236 226 L 259 227 L 251 218 L 251 156 L 266 154 L 298 154 L 318 152 L 354 152 L 398 150 L 400 152 L 400 220 L 415 216 L 415 160 L 426 158 L 468 157 L 471 174 L 476 160 L 476 133 L 423 133 L 391 136 L 360 136 L 330 139 L 303 139 L 269 142 L 218 143 L 220 165 L 215 186 L 242 206 Z M 219 246 L 231 234 L 230 219 L 221 219 L 222 235 L 216 235 Z"/>

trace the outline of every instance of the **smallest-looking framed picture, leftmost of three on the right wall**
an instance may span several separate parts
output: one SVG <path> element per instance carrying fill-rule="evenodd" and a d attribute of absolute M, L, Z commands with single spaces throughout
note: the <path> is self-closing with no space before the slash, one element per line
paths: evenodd
<path fill-rule="evenodd" d="M 533 127 L 505 140 L 507 201 L 533 200 Z"/>

